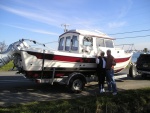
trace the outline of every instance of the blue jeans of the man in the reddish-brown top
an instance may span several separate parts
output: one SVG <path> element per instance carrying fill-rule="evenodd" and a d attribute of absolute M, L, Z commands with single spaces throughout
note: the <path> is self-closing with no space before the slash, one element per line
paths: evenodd
<path fill-rule="evenodd" d="M 114 70 L 110 69 L 110 70 L 107 70 L 106 72 L 107 72 L 106 77 L 107 77 L 107 82 L 108 82 L 108 90 L 117 92 L 116 82 L 114 79 Z"/>

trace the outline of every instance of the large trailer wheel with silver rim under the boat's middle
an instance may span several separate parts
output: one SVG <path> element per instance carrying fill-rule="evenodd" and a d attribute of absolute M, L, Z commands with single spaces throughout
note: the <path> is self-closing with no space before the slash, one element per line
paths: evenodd
<path fill-rule="evenodd" d="M 69 83 L 69 88 L 74 93 L 79 93 L 83 90 L 85 82 L 82 78 L 73 78 Z"/>

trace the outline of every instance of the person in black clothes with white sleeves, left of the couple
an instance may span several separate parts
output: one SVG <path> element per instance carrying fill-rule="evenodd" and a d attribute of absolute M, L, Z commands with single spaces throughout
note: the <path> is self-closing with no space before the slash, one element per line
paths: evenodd
<path fill-rule="evenodd" d="M 105 92 L 104 81 L 106 77 L 106 57 L 104 57 L 104 55 L 105 53 L 102 51 L 100 56 L 96 56 L 97 76 L 100 93 Z"/>

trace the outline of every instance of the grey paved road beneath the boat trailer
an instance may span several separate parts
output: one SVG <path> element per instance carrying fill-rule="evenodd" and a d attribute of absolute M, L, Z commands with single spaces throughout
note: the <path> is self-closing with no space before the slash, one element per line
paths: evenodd
<path fill-rule="evenodd" d="M 129 78 L 116 80 L 119 90 L 150 87 L 150 80 Z M 98 93 L 96 82 L 87 84 L 80 94 L 69 93 L 62 85 L 36 84 L 15 72 L 0 72 L 0 106 L 32 101 L 69 99 Z"/>

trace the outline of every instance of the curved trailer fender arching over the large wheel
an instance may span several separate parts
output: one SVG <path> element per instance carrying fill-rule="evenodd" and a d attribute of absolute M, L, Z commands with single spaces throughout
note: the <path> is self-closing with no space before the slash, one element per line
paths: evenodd
<path fill-rule="evenodd" d="M 69 85 L 70 81 L 75 78 L 81 78 L 85 83 L 87 83 L 86 77 L 82 73 L 72 73 L 68 76 L 67 85 Z"/>

